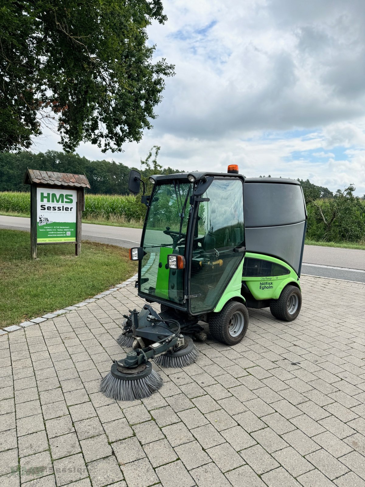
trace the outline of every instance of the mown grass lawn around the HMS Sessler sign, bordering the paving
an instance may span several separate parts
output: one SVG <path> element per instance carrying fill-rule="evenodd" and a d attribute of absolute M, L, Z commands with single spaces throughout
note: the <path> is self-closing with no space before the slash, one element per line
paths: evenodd
<path fill-rule="evenodd" d="M 0 230 L 0 328 L 91 298 L 137 272 L 125 248 L 82 242 L 81 255 L 74 250 L 38 245 L 34 261 L 29 232 Z"/>

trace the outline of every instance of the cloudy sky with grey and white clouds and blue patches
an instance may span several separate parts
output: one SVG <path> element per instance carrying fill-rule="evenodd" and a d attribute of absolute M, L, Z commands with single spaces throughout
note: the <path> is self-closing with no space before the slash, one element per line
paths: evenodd
<path fill-rule="evenodd" d="M 310 179 L 365 193 L 364 0 L 165 0 L 149 27 L 156 59 L 175 64 L 154 129 L 123 153 L 80 155 L 139 167 Z M 50 131 L 35 150 L 61 150 Z"/>

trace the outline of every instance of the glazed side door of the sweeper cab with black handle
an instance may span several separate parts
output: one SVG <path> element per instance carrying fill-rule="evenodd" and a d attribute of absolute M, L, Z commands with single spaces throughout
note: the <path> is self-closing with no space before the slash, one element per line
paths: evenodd
<path fill-rule="evenodd" d="M 201 200 L 188 271 L 192 315 L 213 311 L 244 257 L 243 181 L 215 178 Z"/>

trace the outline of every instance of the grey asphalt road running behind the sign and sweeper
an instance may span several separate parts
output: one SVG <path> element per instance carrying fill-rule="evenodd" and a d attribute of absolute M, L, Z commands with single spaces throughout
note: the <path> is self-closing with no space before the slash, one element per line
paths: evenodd
<path fill-rule="evenodd" d="M 30 218 L 0 215 L 0 228 L 30 230 Z M 121 226 L 82 224 L 82 239 L 132 247 L 140 243 L 142 230 Z M 305 245 L 302 274 L 365 282 L 365 250 Z"/>

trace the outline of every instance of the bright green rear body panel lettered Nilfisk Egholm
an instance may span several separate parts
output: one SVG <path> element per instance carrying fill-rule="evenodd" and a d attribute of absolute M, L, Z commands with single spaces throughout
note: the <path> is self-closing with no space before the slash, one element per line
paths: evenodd
<path fill-rule="evenodd" d="M 292 267 L 287 263 L 275 259 L 275 257 L 270 257 L 263 254 L 254 254 L 251 252 L 246 252 L 245 257 L 251 257 L 253 259 L 261 259 L 263 261 L 274 262 L 276 264 L 282 265 L 290 271 L 290 274 L 284 276 L 271 276 L 271 277 L 242 277 L 242 281 L 245 281 L 247 287 L 251 291 L 253 297 L 256 300 L 277 300 L 281 294 L 281 291 L 287 284 L 291 282 L 295 283 L 300 289 L 299 278 Z"/>

